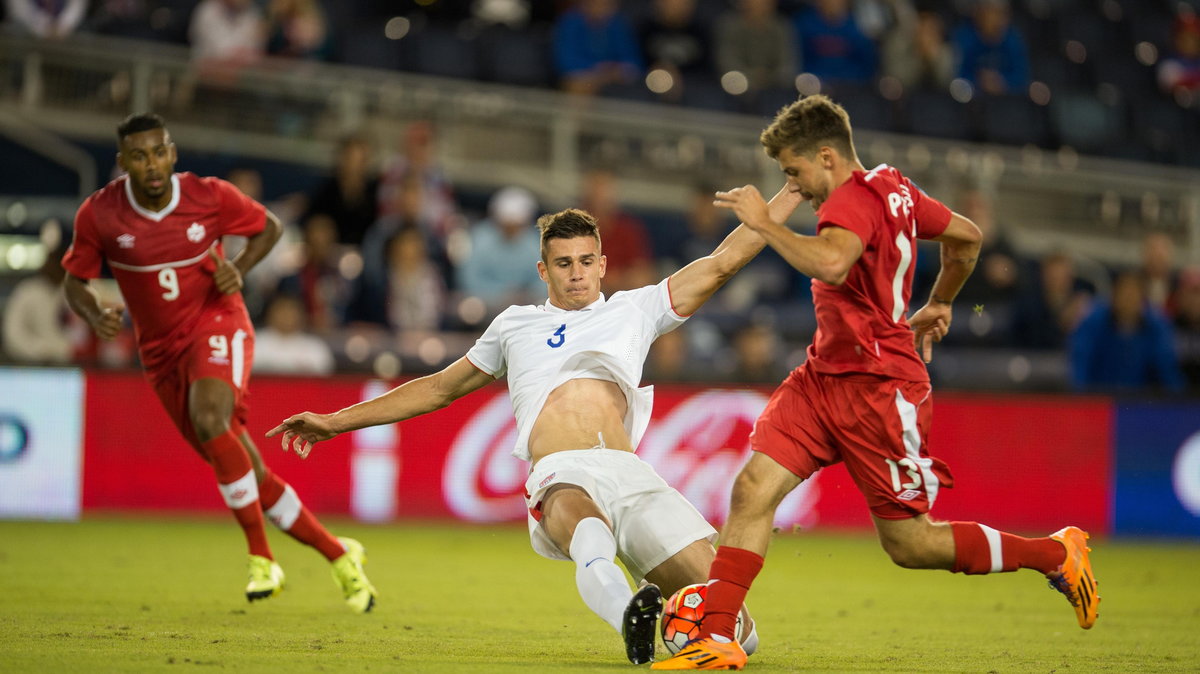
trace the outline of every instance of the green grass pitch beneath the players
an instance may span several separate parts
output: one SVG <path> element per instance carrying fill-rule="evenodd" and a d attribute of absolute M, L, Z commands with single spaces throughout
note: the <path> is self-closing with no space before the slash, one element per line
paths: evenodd
<path fill-rule="evenodd" d="M 247 604 L 224 518 L 0 522 L 0 672 L 638 669 L 574 566 L 539 558 L 520 526 L 335 524 L 367 546 L 370 615 L 274 531 L 287 590 Z M 778 536 L 749 598 L 762 648 L 748 670 L 1200 670 L 1200 546 L 1093 548 L 1104 601 L 1082 631 L 1030 571 L 905 571 L 869 536 Z"/>

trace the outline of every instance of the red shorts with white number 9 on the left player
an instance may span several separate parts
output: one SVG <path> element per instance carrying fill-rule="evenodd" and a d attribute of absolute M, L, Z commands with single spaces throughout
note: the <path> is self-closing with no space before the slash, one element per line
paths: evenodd
<path fill-rule="evenodd" d="M 245 313 L 217 313 L 205 317 L 186 341 L 178 344 L 174 359 L 146 371 L 146 379 L 162 407 L 196 451 L 204 456 L 187 414 L 187 391 L 197 379 L 220 379 L 233 389 L 233 419 L 246 423 L 246 384 L 254 362 L 254 329 Z"/>

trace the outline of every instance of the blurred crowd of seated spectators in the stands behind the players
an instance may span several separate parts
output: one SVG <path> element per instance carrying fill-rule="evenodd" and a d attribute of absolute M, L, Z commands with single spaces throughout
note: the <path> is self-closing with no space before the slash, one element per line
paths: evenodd
<path fill-rule="evenodd" d="M 6 0 L 5 10 L 10 23 L 47 38 L 85 30 L 186 42 L 214 72 L 274 55 L 558 86 L 581 96 L 713 108 L 736 101 L 730 109 L 743 112 L 773 110 L 812 78 L 822 90 L 833 86 L 856 126 L 868 128 L 888 122 L 866 100 L 931 92 L 961 102 L 966 86 L 996 101 L 1036 101 L 1037 78 L 1067 86 L 1084 77 L 1085 62 L 1115 64 L 1084 31 L 1078 42 L 1093 47 L 1091 60 L 1068 49 L 1066 58 L 1055 55 L 1057 66 L 1046 66 L 1036 50 L 1045 35 L 1026 37 L 1050 30 L 1038 29 L 1043 23 L 1063 35 L 1070 26 L 1129 24 L 1126 61 L 1140 65 L 1134 77 L 1142 84 L 1158 88 L 1136 91 L 1183 110 L 1200 88 L 1200 22 L 1188 2 Z M 1032 20 L 1039 12 L 1052 20 Z M 446 56 L 456 44 L 497 35 L 516 40 L 493 40 L 503 59 L 485 59 L 490 68 Z M 1156 35 L 1158 43 L 1139 41 Z M 1153 58 L 1138 52 L 1142 44 Z M 1157 76 L 1147 77 L 1151 67 Z M 1090 84 L 1099 82 L 1099 68 L 1087 72 Z M 857 98 L 862 91 L 870 97 Z M 947 120 L 922 110 L 920 120 L 938 124 L 930 133 L 947 130 Z M 1168 145 L 1189 133 L 1198 130 L 1169 134 Z M 623 205 L 619 175 L 602 167 L 582 175 L 577 204 L 539 203 L 520 185 L 478 194 L 439 166 L 437 142 L 428 121 L 410 124 L 395 149 L 348 136 L 319 185 L 278 198 L 264 195 L 256 168 L 223 176 L 286 223 L 281 242 L 247 278 L 259 325 L 257 369 L 394 375 L 457 357 L 505 306 L 545 301 L 534 222 L 548 210 L 577 205 L 598 217 L 610 294 L 654 283 L 709 253 L 734 224 L 712 205 L 712 193 L 728 186 L 697 182 L 685 212 L 634 212 Z M 1062 354 L 1069 363 L 1062 389 L 1200 392 L 1200 267 L 1182 264 L 1169 233 L 1145 235 L 1136 267 L 1108 269 L 1068 249 L 1024 253 L 995 217 L 998 195 L 985 188 L 938 197 L 986 237 L 947 348 Z M 66 311 L 56 289 L 64 241 L 55 243 L 41 273 L 5 305 L 7 357 L 128 365 L 128 331 L 124 343 L 97 344 Z M 937 264 L 936 245 L 923 245 L 914 303 L 928 295 Z M 701 315 L 655 344 L 648 378 L 778 381 L 803 359 L 815 327 L 808 283 L 776 255 L 760 255 Z"/>

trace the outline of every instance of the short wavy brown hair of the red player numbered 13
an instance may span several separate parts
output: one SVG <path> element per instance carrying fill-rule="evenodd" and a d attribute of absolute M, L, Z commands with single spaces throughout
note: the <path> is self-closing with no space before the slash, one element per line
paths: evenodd
<path fill-rule="evenodd" d="M 810 157 L 823 145 L 834 148 L 846 158 L 854 157 L 850 115 L 845 108 L 820 94 L 805 96 L 779 110 L 758 140 L 773 160 L 778 160 L 785 148 Z"/>

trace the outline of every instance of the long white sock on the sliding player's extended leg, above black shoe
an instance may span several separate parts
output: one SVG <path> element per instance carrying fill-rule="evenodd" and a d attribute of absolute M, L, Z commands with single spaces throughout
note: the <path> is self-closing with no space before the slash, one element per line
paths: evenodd
<path fill-rule="evenodd" d="M 583 603 L 619 633 L 634 590 L 625 572 L 613 562 L 617 540 L 612 530 L 600 518 L 584 518 L 575 526 L 570 555 L 575 560 L 575 585 Z"/>

